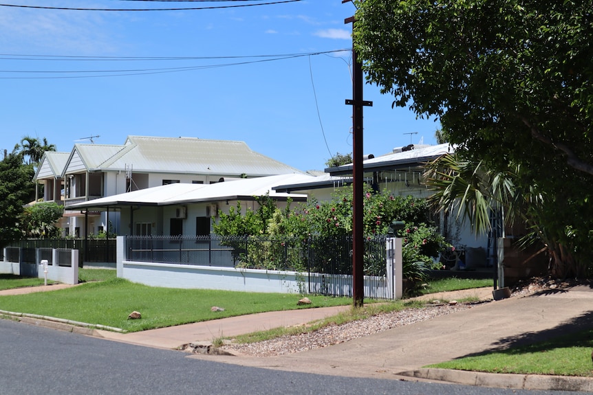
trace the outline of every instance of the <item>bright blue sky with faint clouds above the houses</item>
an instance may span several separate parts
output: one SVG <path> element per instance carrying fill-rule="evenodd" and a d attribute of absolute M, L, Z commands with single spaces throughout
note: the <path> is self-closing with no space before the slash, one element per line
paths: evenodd
<path fill-rule="evenodd" d="M 267 1 L 7 2 L 122 9 Z M 65 152 L 91 136 L 100 136 L 95 144 L 200 137 L 241 140 L 300 170 L 323 169 L 330 155 L 352 152 L 352 62 L 349 52 L 331 51 L 352 46 L 344 19 L 354 11 L 341 0 L 145 12 L 0 6 L 0 148 L 25 135 Z M 286 58 L 316 52 L 331 53 Z M 393 98 L 369 84 L 364 95 L 373 101 L 365 153 L 435 144 L 438 122 L 391 109 Z"/>

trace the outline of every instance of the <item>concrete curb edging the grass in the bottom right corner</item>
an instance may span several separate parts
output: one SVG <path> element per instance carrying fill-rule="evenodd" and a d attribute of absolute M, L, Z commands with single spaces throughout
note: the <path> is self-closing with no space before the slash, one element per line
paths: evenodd
<path fill-rule="evenodd" d="M 410 370 L 398 374 L 400 376 L 418 379 L 446 381 L 448 383 L 476 385 L 480 387 L 509 388 L 513 390 L 593 392 L 593 378 L 591 377 L 484 373 L 432 368 Z"/>

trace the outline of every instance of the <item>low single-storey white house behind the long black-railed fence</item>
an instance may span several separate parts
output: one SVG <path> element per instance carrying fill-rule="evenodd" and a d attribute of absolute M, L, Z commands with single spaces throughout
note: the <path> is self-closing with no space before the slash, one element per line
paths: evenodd
<path fill-rule="evenodd" d="M 119 212 L 120 235 L 133 236 L 206 236 L 211 233 L 213 218 L 230 207 L 241 205 L 241 212 L 257 210 L 257 196 L 269 194 L 284 207 L 288 199 L 306 201 L 305 194 L 277 192 L 281 183 L 310 181 L 307 174 L 279 174 L 253 179 L 237 179 L 215 184 L 173 183 L 136 190 L 92 201 L 76 203 L 73 210 Z"/>

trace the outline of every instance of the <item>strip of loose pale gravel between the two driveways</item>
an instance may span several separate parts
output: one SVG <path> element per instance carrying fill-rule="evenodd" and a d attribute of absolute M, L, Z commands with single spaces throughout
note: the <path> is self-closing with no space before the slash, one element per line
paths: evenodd
<path fill-rule="evenodd" d="M 358 337 L 372 335 L 398 326 L 413 324 L 440 315 L 455 313 L 471 308 L 471 304 L 427 306 L 424 308 L 407 308 L 402 311 L 382 313 L 367 319 L 358 319 L 341 325 L 330 325 L 314 332 L 300 335 L 287 335 L 247 344 L 226 344 L 222 349 L 236 355 L 251 357 L 274 357 L 332 346 Z"/>

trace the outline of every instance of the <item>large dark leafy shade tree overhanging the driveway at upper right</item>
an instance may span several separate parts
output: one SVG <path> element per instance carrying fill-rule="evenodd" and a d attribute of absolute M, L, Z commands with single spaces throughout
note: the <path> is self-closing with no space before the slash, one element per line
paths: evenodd
<path fill-rule="evenodd" d="M 593 2 L 364 0 L 354 45 L 393 105 L 440 120 L 458 152 L 541 196 L 539 225 L 588 259 Z M 570 254 L 568 254 L 570 255 Z"/>

